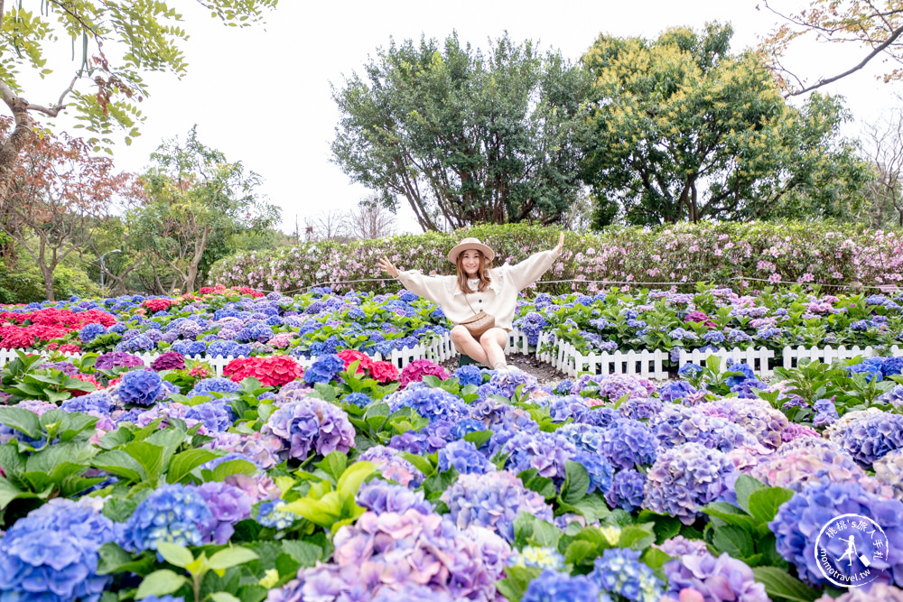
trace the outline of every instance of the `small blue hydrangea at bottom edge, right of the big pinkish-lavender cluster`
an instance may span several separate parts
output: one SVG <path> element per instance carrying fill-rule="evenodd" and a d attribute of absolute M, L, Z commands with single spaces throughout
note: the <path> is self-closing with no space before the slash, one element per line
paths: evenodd
<path fill-rule="evenodd" d="M 593 563 L 589 578 L 601 591 L 630 602 L 658 602 L 665 593 L 663 583 L 639 561 L 639 555 L 639 551 L 628 548 L 603 551 Z"/>

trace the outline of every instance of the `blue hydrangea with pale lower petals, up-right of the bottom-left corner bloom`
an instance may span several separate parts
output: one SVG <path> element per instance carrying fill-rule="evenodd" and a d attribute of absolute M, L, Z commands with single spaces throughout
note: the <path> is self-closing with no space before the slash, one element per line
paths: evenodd
<path fill-rule="evenodd" d="M 135 508 L 119 544 L 128 551 L 156 550 L 160 542 L 198 546 L 212 522 L 213 514 L 194 486 L 164 485 Z"/>

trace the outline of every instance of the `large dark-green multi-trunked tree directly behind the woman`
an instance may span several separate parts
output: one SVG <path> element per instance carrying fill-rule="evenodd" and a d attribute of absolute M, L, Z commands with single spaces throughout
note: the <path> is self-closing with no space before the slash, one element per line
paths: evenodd
<path fill-rule="evenodd" d="M 507 34 L 487 54 L 394 41 L 344 88 L 334 161 L 386 207 L 407 199 L 424 230 L 560 221 L 580 187 L 575 133 L 586 78 L 559 53 Z"/>

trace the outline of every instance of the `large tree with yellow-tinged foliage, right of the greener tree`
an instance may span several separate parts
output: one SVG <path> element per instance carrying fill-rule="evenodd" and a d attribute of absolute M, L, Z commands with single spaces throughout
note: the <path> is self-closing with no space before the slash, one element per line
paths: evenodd
<path fill-rule="evenodd" d="M 731 27 L 676 28 L 655 41 L 600 36 L 583 57 L 595 83 L 582 178 L 595 225 L 778 217 L 790 191 L 837 193 L 861 175 L 839 138 L 840 101 L 787 104 L 758 58 L 729 53 Z"/>

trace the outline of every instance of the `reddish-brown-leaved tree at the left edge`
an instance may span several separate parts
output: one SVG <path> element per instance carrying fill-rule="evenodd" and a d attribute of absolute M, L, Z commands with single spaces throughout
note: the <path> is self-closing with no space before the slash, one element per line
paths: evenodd
<path fill-rule="evenodd" d="M 41 270 L 47 299 L 54 300 L 54 272 L 89 245 L 92 230 L 134 184 L 107 157 L 91 153 L 80 138 L 33 138 L 14 171 L 0 224 Z"/>

